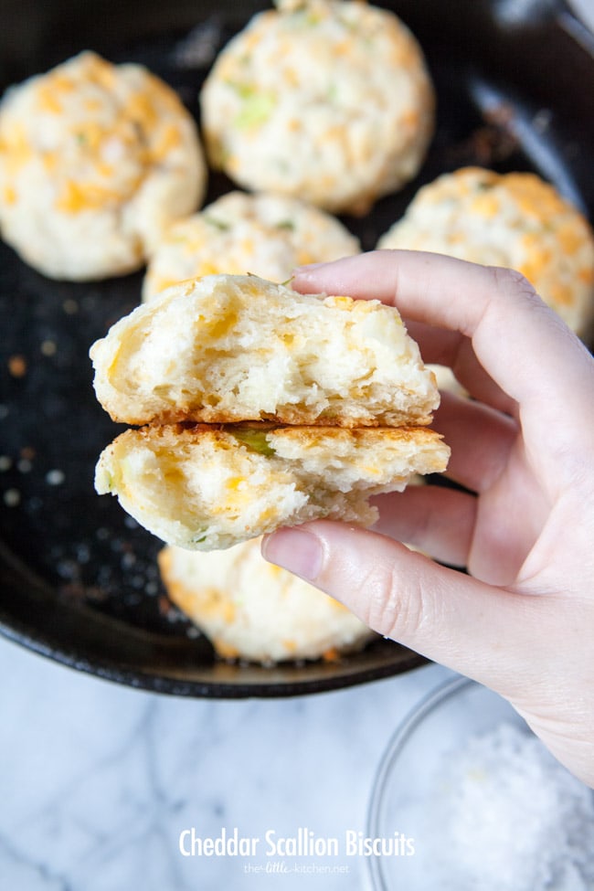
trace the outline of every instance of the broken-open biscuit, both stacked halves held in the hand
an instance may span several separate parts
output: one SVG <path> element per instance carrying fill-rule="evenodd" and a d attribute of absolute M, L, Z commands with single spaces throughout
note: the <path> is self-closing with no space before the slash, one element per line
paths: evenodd
<path fill-rule="evenodd" d="M 114 420 L 95 486 L 168 544 L 225 548 L 440 472 L 439 404 L 398 311 L 256 276 L 174 286 L 91 348 Z"/>

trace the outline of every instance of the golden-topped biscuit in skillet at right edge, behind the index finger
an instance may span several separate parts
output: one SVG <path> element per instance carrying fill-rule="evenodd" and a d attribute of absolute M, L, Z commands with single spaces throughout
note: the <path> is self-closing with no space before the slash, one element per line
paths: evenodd
<path fill-rule="evenodd" d="M 432 250 L 518 270 L 577 334 L 594 318 L 594 234 L 535 174 L 465 167 L 419 190 L 378 248 Z"/>

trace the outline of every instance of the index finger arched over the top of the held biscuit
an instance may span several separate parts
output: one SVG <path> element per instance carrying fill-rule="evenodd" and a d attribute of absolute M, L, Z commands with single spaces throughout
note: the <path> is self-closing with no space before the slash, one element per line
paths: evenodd
<path fill-rule="evenodd" d="M 591 414 L 594 361 L 519 273 L 420 251 L 377 250 L 297 270 L 292 287 L 375 297 L 407 319 L 466 335 L 485 371 L 539 435 L 559 427 L 559 406 L 566 424 L 581 426 Z M 557 452 L 574 437 L 575 430 L 557 430 Z"/>

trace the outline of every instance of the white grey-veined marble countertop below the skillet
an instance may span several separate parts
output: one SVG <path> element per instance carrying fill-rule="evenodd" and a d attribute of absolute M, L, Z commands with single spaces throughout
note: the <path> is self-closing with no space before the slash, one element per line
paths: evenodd
<path fill-rule="evenodd" d="M 0 888 L 359 891 L 366 860 L 297 858 L 324 874 L 246 872 L 264 833 L 365 832 L 375 771 L 437 665 L 285 700 L 176 699 L 51 663 L 0 638 Z M 179 835 L 260 837 L 257 856 L 184 857 Z M 313 864 L 313 866 L 311 865 Z M 273 868 L 271 866 L 269 869 Z"/>

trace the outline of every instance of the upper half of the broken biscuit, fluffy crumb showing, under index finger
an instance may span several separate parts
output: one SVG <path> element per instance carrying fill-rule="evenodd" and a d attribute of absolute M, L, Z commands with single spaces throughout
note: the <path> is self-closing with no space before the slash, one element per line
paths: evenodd
<path fill-rule="evenodd" d="M 439 405 L 396 309 L 256 276 L 175 285 L 114 324 L 90 355 L 97 398 L 127 424 L 416 426 Z"/>

